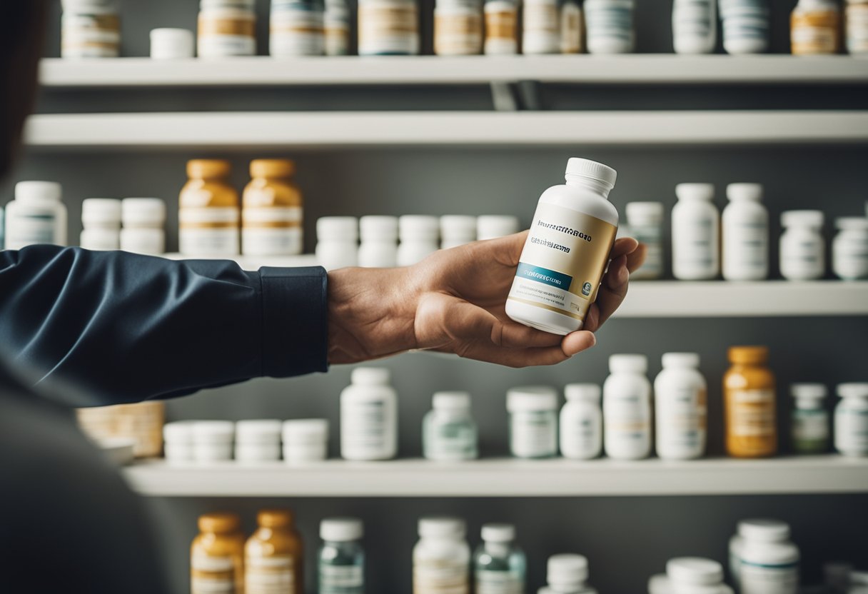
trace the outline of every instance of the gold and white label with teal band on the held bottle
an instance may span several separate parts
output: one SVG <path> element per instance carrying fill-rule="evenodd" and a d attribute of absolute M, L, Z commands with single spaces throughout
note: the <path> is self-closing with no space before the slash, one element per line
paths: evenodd
<path fill-rule="evenodd" d="M 553 204 L 536 208 L 510 300 L 584 320 L 617 228 Z"/>

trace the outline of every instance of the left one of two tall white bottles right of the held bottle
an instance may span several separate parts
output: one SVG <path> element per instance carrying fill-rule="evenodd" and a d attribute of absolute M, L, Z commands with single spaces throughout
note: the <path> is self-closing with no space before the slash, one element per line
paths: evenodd
<path fill-rule="evenodd" d="M 708 281 L 720 274 L 720 213 L 710 183 L 680 183 L 672 209 L 672 274 Z"/>

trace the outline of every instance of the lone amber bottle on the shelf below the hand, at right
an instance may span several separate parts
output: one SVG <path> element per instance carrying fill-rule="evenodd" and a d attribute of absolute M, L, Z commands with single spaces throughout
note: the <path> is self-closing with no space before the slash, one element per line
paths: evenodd
<path fill-rule="evenodd" d="M 732 366 L 723 376 L 727 453 L 763 458 L 778 451 L 775 380 L 767 347 L 731 347 Z"/>

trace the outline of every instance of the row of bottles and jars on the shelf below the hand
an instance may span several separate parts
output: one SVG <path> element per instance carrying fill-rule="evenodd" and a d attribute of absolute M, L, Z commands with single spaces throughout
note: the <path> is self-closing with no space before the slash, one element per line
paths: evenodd
<path fill-rule="evenodd" d="M 779 451 L 775 378 L 765 347 L 733 347 L 732 367 L 723 379 L 727 453 L 740 458 L 773 456 Z M 663 370 L 648 380 L 644 355 L 616 354 L 602 386 L 570 384 L 558 413 L 556 389 L 522 386 L 507 393 L 510 452 L 521 459 L 545 459 L 560 453 L 569 459 L 645 459 L 652 449 L 661 459 L 697 459 L 707 448 L 707 383 L 696 353 L 666 353 Z M 340 454 L 349 460 L 386 460 L 398 456 L 398 393 L 389 370 L 358 367 L 352 385 L 340 396 Z M 653 396 L 652 396 L 653 393 Z M 837 387 L 841 400 L 830 421 L 823 384 L 790 386 L 791 450 L 824 453 L 832 446 L 848 456 L 868 456 L 868 383 Z M 602 406 L 601 406 L 602 396 Z M 143 455 L 158 455 L 162 424 L 158 403 L 82 409 L 82 426 L 97 438 L 143 432 Z M 136 414 L 131 414 L 136 413 Z M 133 431 L 138 433 L 133 433 Z M 328 457 L 328 421 L 278 419 L 175 421 L 162 427 L 165 456 L 176 463 L 236 459 L 257 463 L 283 459 L 305 464 Z M 479 457 L 477 424 L 470 394 L 439 392 L 423 419 L 426 459 L 472 460 Z M 652 444 L 654 442 L 654 444 Z M 652 448 L 654 446 L 654 448 Z"/>

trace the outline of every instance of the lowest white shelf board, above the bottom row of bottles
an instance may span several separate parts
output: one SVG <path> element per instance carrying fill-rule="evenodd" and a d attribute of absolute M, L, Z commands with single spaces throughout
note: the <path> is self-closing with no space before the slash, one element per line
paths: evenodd
<path fill-rule="evenodd" d="M 868 459 L 838 456 L 767 460 L 648 459 L 580 462 L 486 459 L 436 463 L 405 459 L 308 466 L 130 466 L 133 489 L 166 497 L 583 497 L 868 492 Z"/>

